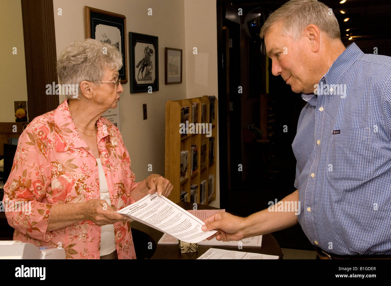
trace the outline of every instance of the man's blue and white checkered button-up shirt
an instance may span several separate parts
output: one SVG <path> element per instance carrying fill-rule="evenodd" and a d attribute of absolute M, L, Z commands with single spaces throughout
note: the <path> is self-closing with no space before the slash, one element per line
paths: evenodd
<path fill-rule="evenodd" d="M 301 97 L 292 148 L 304 233 L 334 254 L 391 254 L 391 57 L 350 44 Z"/>

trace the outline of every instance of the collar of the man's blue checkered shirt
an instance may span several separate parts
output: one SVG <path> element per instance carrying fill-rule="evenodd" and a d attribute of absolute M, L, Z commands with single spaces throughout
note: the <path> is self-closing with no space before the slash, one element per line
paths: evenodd
<path fill-rule="evenodd" d="M 343 53 L 337 57 L 322 79 L 324 78 L 328 85 L 339 83 L 346 74 L 345 71 L 362 55 L 364 55 L 364 52 L 361 51 L 355 43 L 350 44 Z M 321 84 L 322 79 L 319 81 L 319 85 Z M 301 94 L 301 98 L 309 104 L 316 106 L 317 95 Z"/>

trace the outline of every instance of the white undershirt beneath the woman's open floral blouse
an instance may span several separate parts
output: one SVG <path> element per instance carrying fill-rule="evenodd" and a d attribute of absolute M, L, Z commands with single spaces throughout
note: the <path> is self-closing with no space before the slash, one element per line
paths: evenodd
<path fill-rule="evenodd" d="M 99 170 L 99 187 L 100 187 L 100 199 L 107 201 L 108 205 L 111 206 L 109 187 L 107 185 L 106 177 L 102 168 L 100 159 L 96 159 Z M 100 256 L 110 254 L 115 251 L 115 233 L 114 224 L 106 224 L 100 227 Z"/>

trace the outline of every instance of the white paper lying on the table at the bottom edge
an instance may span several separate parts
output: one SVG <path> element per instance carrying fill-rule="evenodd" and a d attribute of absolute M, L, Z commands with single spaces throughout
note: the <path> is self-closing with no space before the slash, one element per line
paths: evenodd
<path fill-rule="evenodd" d="M 197 259 L 278 259 L 279 256 L 211 248 Z"/>

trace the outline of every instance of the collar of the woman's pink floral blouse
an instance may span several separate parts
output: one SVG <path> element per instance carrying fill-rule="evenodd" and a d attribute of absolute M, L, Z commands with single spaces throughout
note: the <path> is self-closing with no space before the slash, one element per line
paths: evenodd
<path fill-rule="evenodd" d="M 104 117 L 97 120 L 97 142 L 109 136 L 107 123 L 108 120 Z M 79 136 L 79 129 L 72 121 L 67 100 L 54 110 L 54 125 L 56 151 L 63 152 L 81 147 L 89 149 L 87 143 Z"/>

